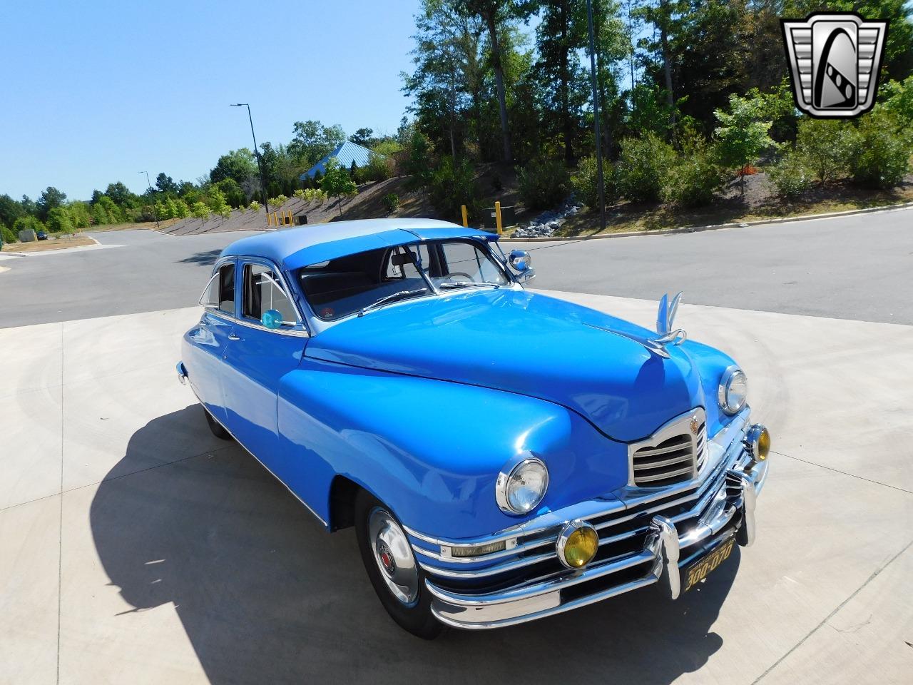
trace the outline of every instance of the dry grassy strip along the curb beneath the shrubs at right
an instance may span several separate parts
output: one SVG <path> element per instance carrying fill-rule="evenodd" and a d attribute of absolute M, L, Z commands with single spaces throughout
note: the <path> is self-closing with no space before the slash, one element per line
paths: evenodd
<path fill-rule="evenodd" d="M 664 228 L 762 221 L 789 216 L 845 212 L 911 201 L 913 201 L 913 183 L 908 181 L 906 184 L 885 191 L 866 190 L 851 184 L 834 184 L 816 188 L 802 200 L 792 203 L 774 195 L 757 201 L 751 201 L 747 196 L 732 195 L 720 199 L 716 205 L 693 209 L 668 205 L 622 203 L 606 209 L 608 216 L 604 233 L 655 231 Z M 557 235 L 589 237 L 600 233 L 603 231 L 600 230 L 599 215 L 586 211 L 568 217 Z"/>

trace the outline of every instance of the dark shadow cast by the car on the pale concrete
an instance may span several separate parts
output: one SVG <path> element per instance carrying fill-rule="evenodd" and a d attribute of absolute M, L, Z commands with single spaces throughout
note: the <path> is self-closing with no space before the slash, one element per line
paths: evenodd
<path fill-rule="evenodd" d="M 738 552 L 676 602 L 647 587 L 517 627 L 415 638 L 380 611 L 352 530 L 324 532 L 236 443 L 214 440 L 209 452 L 148 468 L 151 446 L 198 430 L 205 419 L 194 405 L 136 431 L 95 494 L 90 525 L 110 582 L 137 609 L 173 603 L 212 682 L 398 682 L 414 673 L 465 683 L 471 672 L 480 682 L 602 673 L 665 684 L 722 645 L 711 628 Z"/>

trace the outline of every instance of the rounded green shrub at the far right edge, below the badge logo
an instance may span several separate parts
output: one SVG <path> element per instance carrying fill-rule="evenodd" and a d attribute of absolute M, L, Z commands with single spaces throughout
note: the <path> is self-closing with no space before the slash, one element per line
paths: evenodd
<path fill-rule="evenodd" d="M 853 180 L 871 188 L 899 184 L 909 171 L 910 134 L 888 111 L 873 111 L 859 120 L 850 136 L 855 154 L 850 161 Z"/>

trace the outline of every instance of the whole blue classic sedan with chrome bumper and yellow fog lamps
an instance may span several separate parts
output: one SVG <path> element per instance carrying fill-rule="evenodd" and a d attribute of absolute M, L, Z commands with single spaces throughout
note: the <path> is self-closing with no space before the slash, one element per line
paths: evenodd
<path fill-rule="evenodd" d="M 406 630 L 492 628 L 656 584 L 671 598 L 755 534 L 770 435 L 745 374 L 524 290 L 530 255 L 426 219 L 246 237 L 215 262 L 177 364 L 327 528 L 354 526 Z"/>

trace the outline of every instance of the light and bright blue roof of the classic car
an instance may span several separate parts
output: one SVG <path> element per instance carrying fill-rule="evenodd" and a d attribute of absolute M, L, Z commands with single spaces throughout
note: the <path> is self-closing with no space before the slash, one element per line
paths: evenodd
<path fill-rule="evenodd" d="M 438 219 L 359 219 L 284 228 L 243 237 L 222 250 L 220 258 L 263 257 L 285 269 L 299 269 L 370 249 L 446 237 L 498 239 L 497 235 L 488 231 Z"/>

